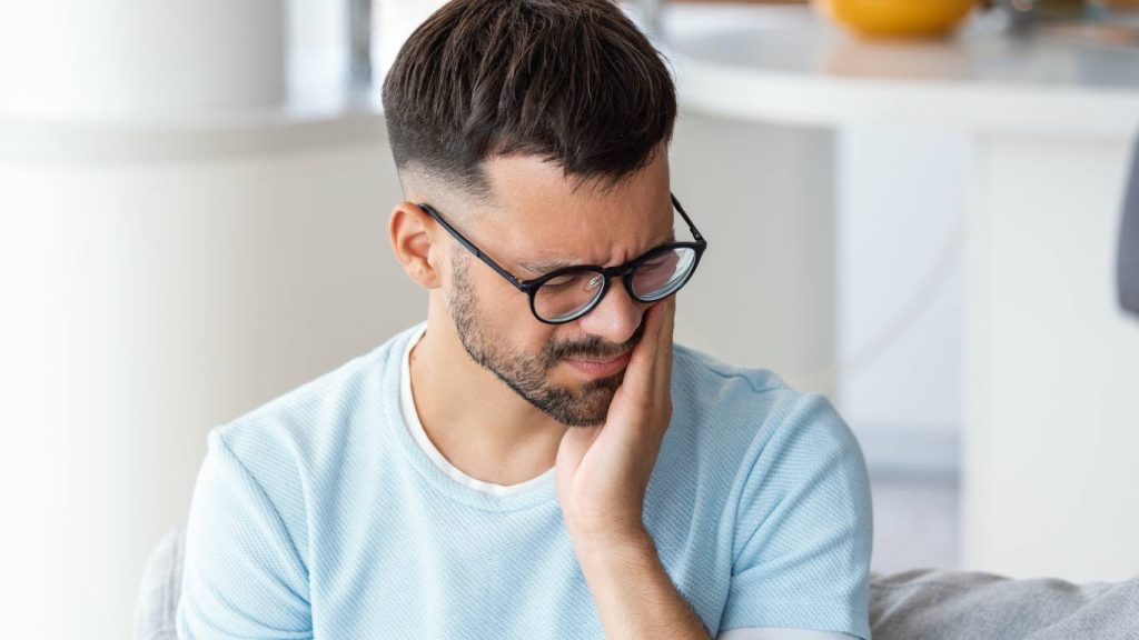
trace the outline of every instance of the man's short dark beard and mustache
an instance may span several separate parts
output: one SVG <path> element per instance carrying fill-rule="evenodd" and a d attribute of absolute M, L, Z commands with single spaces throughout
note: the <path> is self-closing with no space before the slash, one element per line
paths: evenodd
<path fill-rule="evenodd" d="M 452 254 L 452 286 L 448 306 L 459 331 L 459 339 L 472 360 L 498 376 L 526 402 L 563 425 L 593 427 L 604 424 L 613 395 L 624 380 L 624 370 L 577 386 L 556 385 L 550 380 L 550 374 L 567 358 L 605 360 L 629 352 L 645 335 L 644 319 L 632 337 L 621 345 L 589 336 L 579 342 L 550 340 L 533 354 L 516 351 L 505 339 L 490 336 L 485 330 L 478 300 L 467 276 L 467 256 Z"/>

